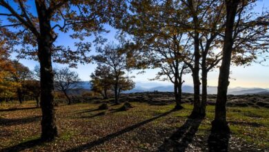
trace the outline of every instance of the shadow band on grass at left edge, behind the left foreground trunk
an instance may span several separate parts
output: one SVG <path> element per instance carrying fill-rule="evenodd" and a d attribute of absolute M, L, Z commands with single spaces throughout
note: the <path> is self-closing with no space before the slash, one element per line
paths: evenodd
<path fill-rule="evenodd" d="M 23 117 L 19 119 L 6 119 L 0 117 L 0 126 L 13 126 L 19 124 L 28 124 L 31 122 L 37 122 L 41 119 L 41 116 Z"/>

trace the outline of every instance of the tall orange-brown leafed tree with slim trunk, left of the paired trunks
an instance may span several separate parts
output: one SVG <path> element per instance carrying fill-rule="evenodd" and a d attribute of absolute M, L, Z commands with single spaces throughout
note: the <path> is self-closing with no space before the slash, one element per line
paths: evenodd
<path fill-rule="evenodd" d="M 117 28 L 123 30 L 123 34 L 132 35 L 129 48 L 137 68 L 160 68 L 155 78 L 162 79 L 165 75 L 174 84 L 175 108 L 180 109 L 182 75 L 188 72 L 184 62 L 192 61 L 192 57 L 188 57 L 188 30 L 177 28 L 172 21 L 176 17 L 187 21 L 188 16 L 178 13 L 181 5 L 175 1 L 134 0 L 131 4 L 131 13 L 122 19 Z"/>

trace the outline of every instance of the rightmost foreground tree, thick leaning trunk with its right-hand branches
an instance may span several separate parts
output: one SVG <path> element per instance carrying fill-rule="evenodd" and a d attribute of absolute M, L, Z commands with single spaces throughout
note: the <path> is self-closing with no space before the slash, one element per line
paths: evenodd
<path fill-rule="evenodd" d="M 226 0 L 226 27 L 223 42 L 223 59 L 219 69 L 217 102 L 212 130 L 229 131 L 226 121 L 227 90 L 230 84 L 230 64 L 232 55 L 235 63 L 246 64 L 261 53 L 268 52 L 268 13 L 255 18 L 250 10 L 255 1 Z M 249 7 L 248 7 L 249 6 Z M 250 53 L 250 57 L 244 55 Z M 240 57 L 240 54 L 242 55 Z"/>

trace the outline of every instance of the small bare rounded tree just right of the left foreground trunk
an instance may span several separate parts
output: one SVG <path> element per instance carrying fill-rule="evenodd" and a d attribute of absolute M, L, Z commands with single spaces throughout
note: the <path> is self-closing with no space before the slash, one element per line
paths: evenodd
<path fill-rule="evenodd" d="M 69 105 L 71 104 L 71 99 L 68 97 L 68 91 L 73 88 L 79 88 L 80 82 L 79 75 L 74 71 L 70 71 L 69 68 L 54 70 L 54 88 L 66 96 Z"/>

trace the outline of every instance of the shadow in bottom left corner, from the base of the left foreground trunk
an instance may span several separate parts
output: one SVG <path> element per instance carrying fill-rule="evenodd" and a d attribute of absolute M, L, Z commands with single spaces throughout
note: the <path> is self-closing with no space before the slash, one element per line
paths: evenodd
<path fill-rule="evenodd" d="M 42 140 L 39 138 L 36 140 L 30 140 L 28 142 L 22 142 L 20 144 L 14 145 L 14 146 L 7 147 L 5 149 L 1 149 L 0 151 L 1 152 L 24 151 L 26 149 L 30 149 L 30 148 L 37 146 L 37 145 L 40 145 L 42 143 L 43 143 Z"/>

